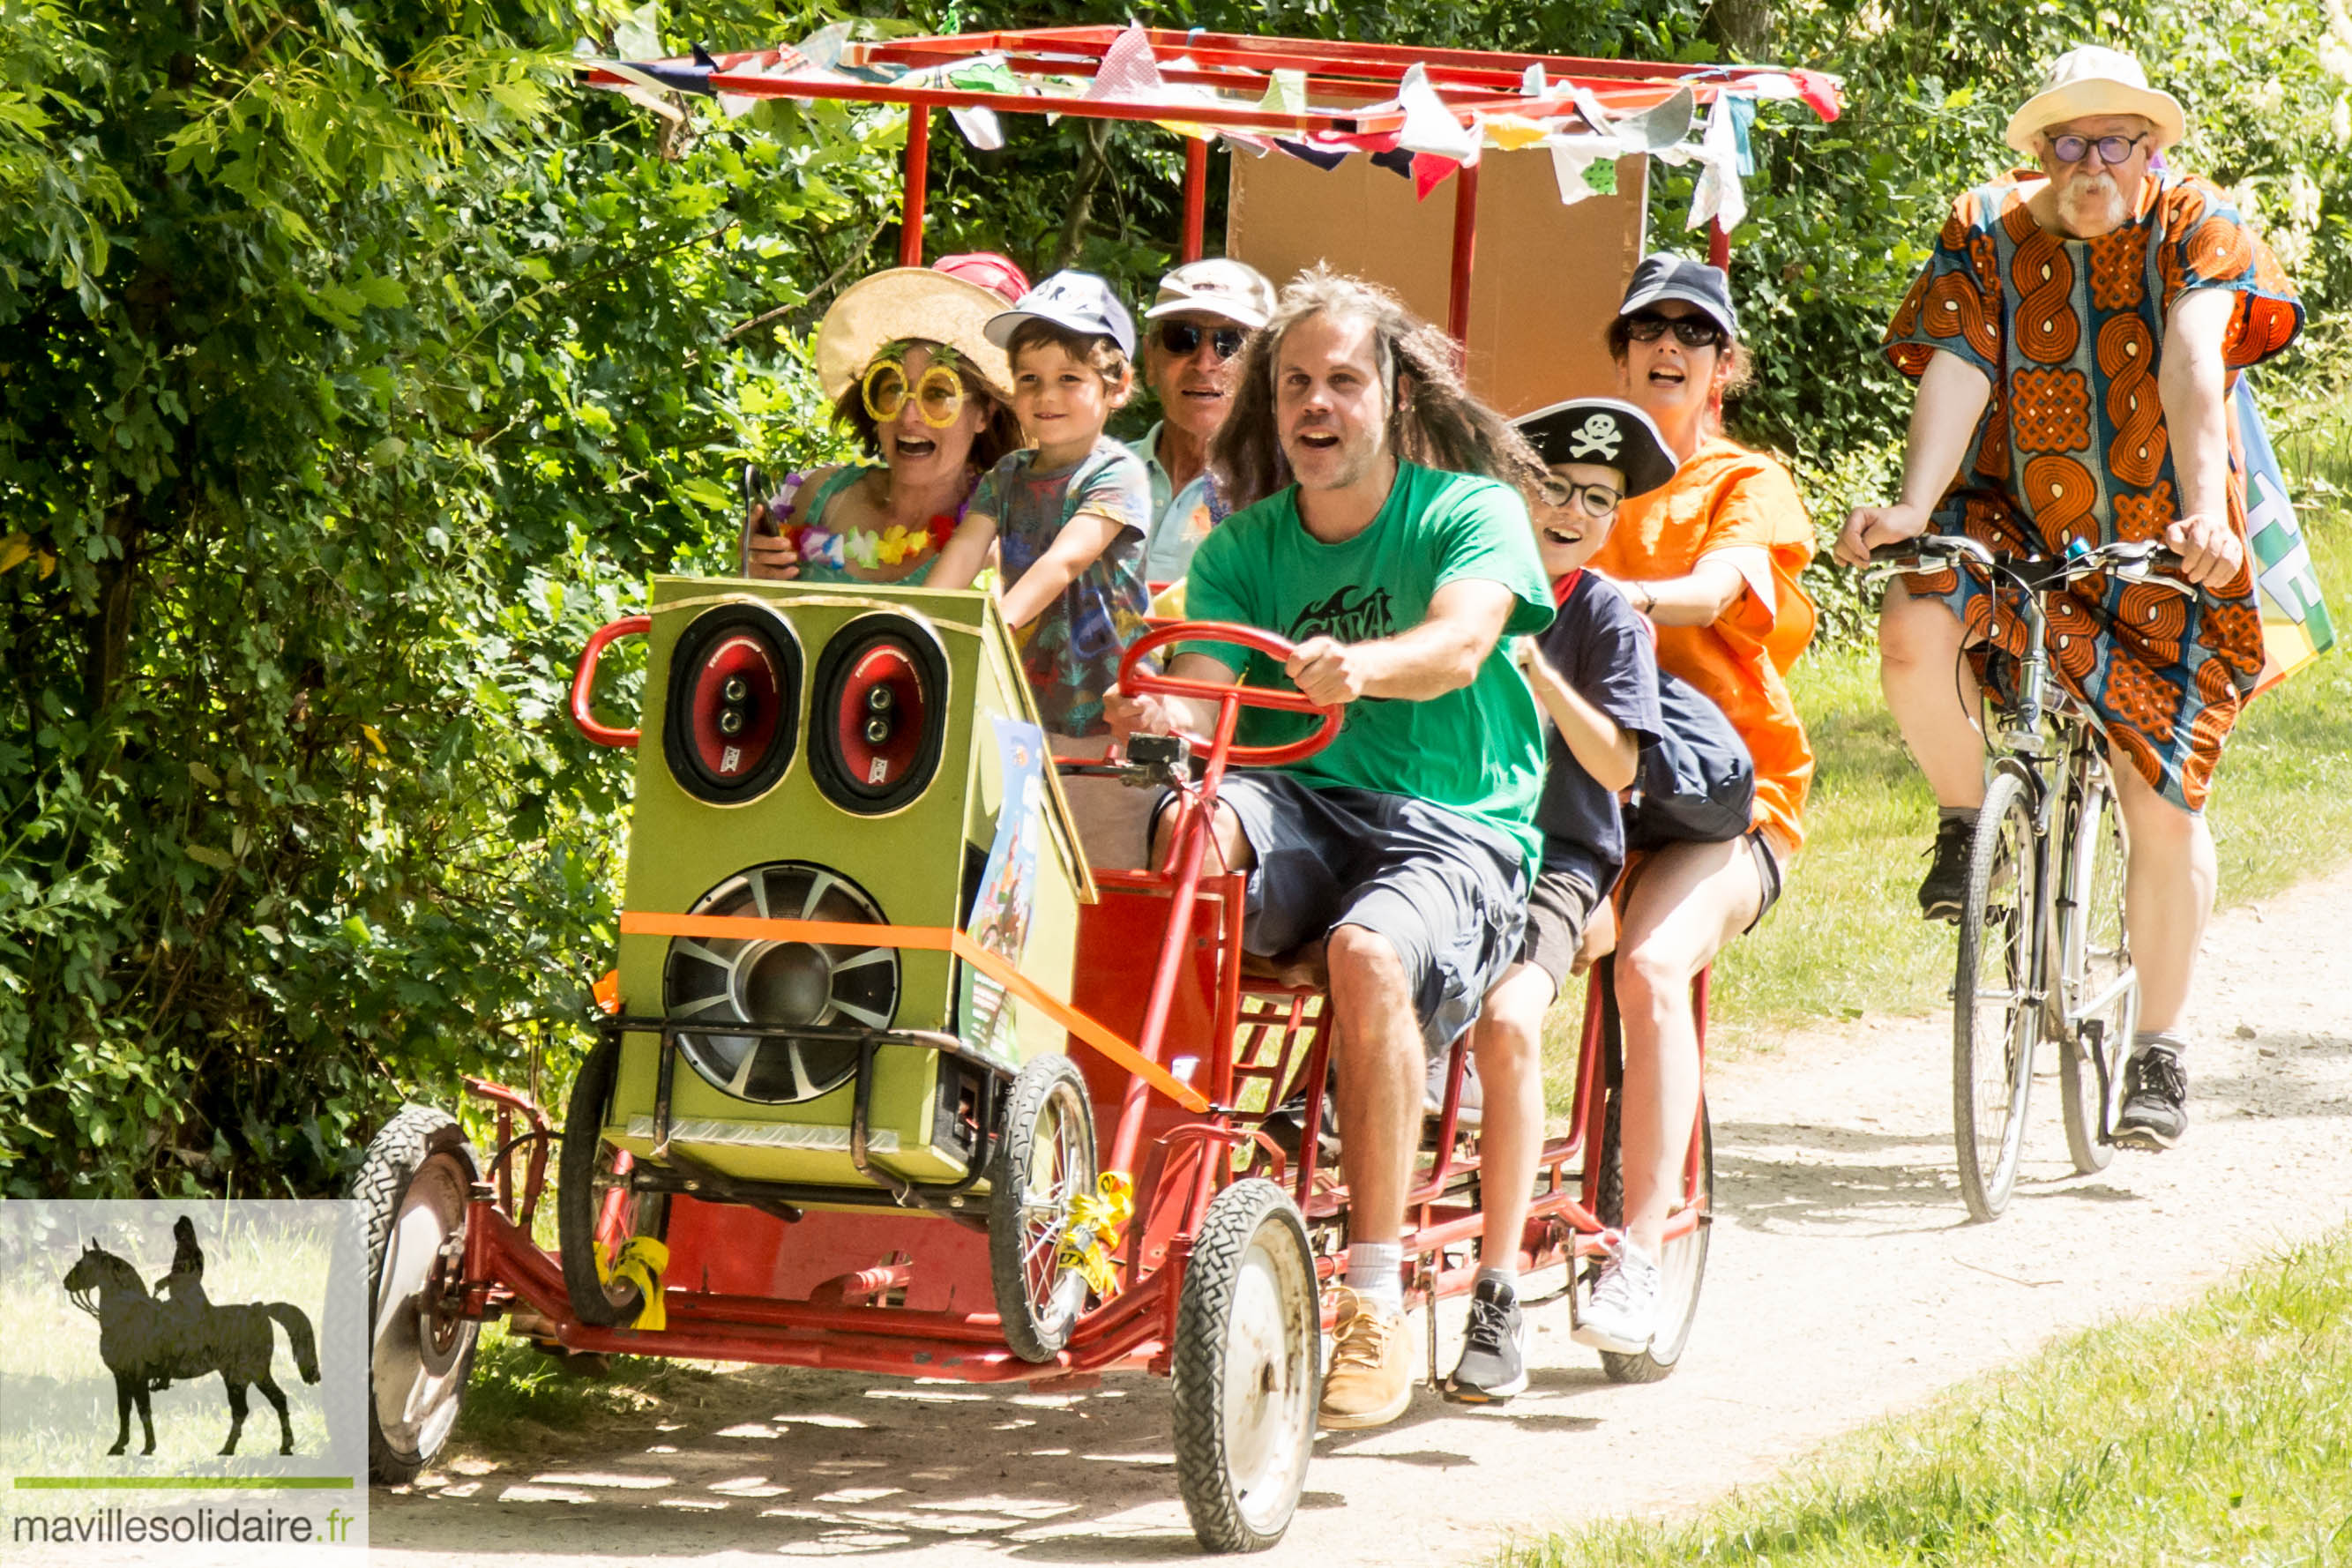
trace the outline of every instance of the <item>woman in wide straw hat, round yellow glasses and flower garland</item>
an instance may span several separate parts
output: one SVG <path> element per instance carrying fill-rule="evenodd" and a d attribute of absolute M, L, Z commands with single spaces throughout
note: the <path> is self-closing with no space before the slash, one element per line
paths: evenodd
<path fill-rule="evenodd" d="M 971 487 L 1023 444 L 1004 350 L 981 331 L 1007 301 L 955 261 L 971 259 L 861 277 L 826 310 L 816 374 L 875 461 L 790 475 L 753 503 L 743 576 L 920 583 Z"/>

